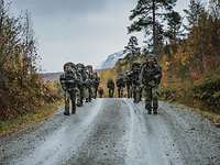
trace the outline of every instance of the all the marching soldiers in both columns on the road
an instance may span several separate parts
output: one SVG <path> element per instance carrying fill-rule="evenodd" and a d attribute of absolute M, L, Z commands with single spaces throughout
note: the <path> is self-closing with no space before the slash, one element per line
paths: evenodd
<path fill-rule="evenodd" d="M 114 97 L 116 86 L 118 97 L 124 97 L 124 88 L 128 98 L 133 98 L 134 103 L 139 103 L 142 97 L 145 98 L 145 109 L 148 114 L 157 114 L 158 108 L 158 85 L 162 78 L 162 68 L 157 63 L 156 56 L 148 55 L 142 63 L 133 63 L 130 70 L 120 73 L 116 82 L 109 79 L 107 88 L 109 97 Z M 66 63 L 64 74 L 61 75 L 59 81 L 65 92 L 65 116 L 76 113 L 76 107 L 84 106 L 92 99 L 103 97 L 103 89 L 99 88 L 100 78 L 94 72 L 92 66 L 84 64 Z"/>

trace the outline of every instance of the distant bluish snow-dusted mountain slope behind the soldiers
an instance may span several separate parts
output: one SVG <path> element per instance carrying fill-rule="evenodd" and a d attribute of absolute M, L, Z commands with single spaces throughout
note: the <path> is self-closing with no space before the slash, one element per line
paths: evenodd
<path fill-rule="evenodd" d="M 117 62 L 121 58 L 124 58 L 125 54 L 123 51 L 111 54 L 107 59 L 98 67 L 98 69 L 110 69 L 113 68 Z"/>

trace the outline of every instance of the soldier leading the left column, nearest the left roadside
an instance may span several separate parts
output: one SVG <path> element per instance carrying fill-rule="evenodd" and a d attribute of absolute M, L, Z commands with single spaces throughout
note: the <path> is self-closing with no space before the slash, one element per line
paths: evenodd
<path fill-rule="evenodd" d="M 65 116 L 69 116 L 69 105 L 72 102 L 72 113 L 76 113 L 76 87 L 77 75 L 76 66 L 73 63 L 66 63 L 64 65 L 64 74 L 61 75 L 59 81 L 63 90 L 65 91 Z"/>

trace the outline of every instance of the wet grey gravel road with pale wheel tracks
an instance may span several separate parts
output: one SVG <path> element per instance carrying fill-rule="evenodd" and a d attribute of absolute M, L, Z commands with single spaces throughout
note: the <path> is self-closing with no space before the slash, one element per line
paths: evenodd
<path fill-rule="evenodd" d="M 220 130 L 184 106 L 98 99 L 0 142 L 1 165 L 220 165 Z"/>

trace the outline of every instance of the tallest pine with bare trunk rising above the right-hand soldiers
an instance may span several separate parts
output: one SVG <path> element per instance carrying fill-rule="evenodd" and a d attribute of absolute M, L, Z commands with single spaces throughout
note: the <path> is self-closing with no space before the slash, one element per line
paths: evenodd
<path fill-rule="evenodd" d="M 153 52 L 158 53 L 163 37 L 163 23 L 167 13 L 173 11 L 176 0 L 139 0 L 136 7 L 131 11 L 130 20 L 133 23 L 128 28 L 129 33 L 144 31 L 150 35 L 148 42 Z"/>

